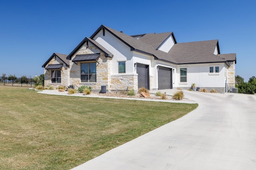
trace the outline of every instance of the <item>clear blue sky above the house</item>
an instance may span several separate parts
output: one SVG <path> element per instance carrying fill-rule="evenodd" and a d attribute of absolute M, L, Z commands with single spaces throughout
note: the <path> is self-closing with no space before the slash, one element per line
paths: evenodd
<path fill-rule="evenodd" d="M 128 35 L 173 31 L 178 43 L 218 39 L 236 53 L 236 75 L 256 76 L 255 0 L 2 0 L 0 76 L 44 73 L 103 24 Z"/>

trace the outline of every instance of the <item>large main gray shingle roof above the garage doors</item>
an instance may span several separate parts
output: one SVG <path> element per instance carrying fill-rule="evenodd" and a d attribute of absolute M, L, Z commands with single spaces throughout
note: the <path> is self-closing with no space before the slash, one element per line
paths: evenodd
<path fill-rule="evenodd" d="M 218 40 L 209 41 L 196 41 L 190 43 L 176 43 L 168 53 L 156 50 L 159 45 L 168 37 L 172 32 L 168 33 L 150 33 L 145 34 L 140 39 L 136 39 L 125 33 L 116 31 L 110 27 L 101 25 L 90 37 L 93 37 L 101 30 L 106 29 L 124 44 L 131 48 L 131 50 L 151 55 L 154 59 L 166 61 L 174 64 L 193 64 L 193 63 L 225 63 L 226 60 L 219 55 L 214 55 L 215 47 L 218 47 Z M 220 53 L 220 51 L 218 51 Z M 234 57 L 233 57 L 234 58 Z M 230 57 L 230 59 L 233 59 Z"/>

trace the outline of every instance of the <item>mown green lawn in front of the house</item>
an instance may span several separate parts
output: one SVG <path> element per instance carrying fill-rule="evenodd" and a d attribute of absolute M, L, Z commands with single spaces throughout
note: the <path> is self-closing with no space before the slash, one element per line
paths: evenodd
<path fill-rule="evenodd" d="M 0 169 L 69 170 L 197 104 L 39 94 L 0 86 Z"/>

